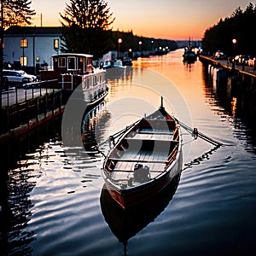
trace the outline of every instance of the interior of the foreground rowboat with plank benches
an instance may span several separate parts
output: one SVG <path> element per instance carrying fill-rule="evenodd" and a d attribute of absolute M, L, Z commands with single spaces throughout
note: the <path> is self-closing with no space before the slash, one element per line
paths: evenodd
<path fill-rule="evenodd" d="M 178 137 L 174 120 L 142 119 L 109 155 L 110 179 L 131 187 L 158 177 L 175 159 Z"/>

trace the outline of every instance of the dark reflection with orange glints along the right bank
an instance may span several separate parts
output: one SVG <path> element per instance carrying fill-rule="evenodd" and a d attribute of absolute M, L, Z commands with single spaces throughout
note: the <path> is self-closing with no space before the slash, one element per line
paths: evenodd
<path fill-rule="evenodd" d="M 246 140 L 247 150 L 256 154 L 255 92 L 233 78 L 217 79 L 218 72 L 221 71 L 202 67 L 206 102 L 224 121 L 229 119 L 234 136 Z"/>

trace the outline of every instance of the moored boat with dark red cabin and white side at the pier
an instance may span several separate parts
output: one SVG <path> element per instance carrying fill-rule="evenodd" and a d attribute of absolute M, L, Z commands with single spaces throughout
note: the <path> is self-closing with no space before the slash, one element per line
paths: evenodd
<path fill-rule="evenodd" d="M 108 95 L 108 84 L 106 70 L 92 67 L 92 57 L 76 53 L 53 55 L 53 68 L 41 72 L 41 80 L 47 81 L 43 86 L 76 90 L 88 110 L 95 107 Z"/>

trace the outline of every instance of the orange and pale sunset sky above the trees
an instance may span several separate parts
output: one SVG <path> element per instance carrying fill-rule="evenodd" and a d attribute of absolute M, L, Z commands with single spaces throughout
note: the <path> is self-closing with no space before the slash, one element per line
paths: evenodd
<path fill-rule="evenodd" d="M 246 0 L 109 0 L 108 7 L 115 17 L 113 29 L 132 30 L 137 36 L 200 40 L 206 29 L 229 17 L 237 7 L 245 9 Z M 60 26 L 67 0 L 32 0 L 37 15 L 33 25 Z"/>

